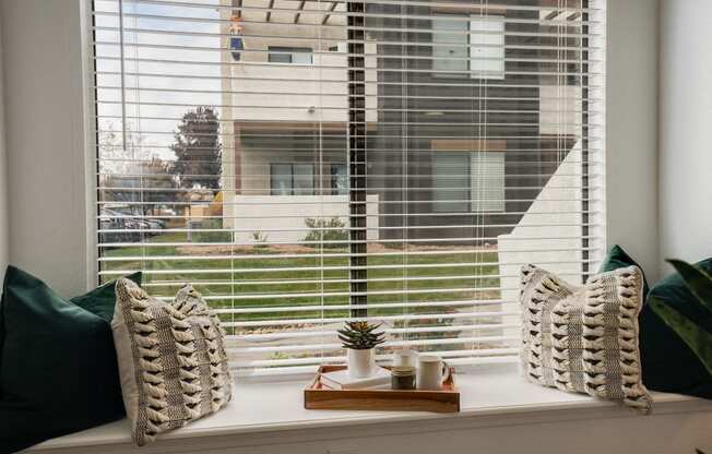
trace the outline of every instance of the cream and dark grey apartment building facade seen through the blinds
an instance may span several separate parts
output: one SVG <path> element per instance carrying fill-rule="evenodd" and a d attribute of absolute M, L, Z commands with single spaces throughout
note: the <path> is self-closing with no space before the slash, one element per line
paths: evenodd
<path fill-rule="evenodd" d="M 496 242 L 584 135 L 573 3 L 225 0 L 224 226 L 361 188 L 369 240 Z"/>

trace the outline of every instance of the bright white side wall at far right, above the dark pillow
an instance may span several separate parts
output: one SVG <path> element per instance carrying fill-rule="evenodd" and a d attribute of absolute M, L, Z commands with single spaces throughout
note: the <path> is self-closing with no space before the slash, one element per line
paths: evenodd
<path fill-rule="evenodd" d="M 712 1 L 663 0 L 660 242 L 666 258 L 712 256 Z"/>

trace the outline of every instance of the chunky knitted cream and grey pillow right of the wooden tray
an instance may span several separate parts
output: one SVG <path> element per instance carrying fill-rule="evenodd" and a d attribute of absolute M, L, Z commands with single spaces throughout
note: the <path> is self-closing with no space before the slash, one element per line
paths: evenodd
<path fill-rule="evenodd" d="M 650 413 L 638 344 L 642 288 L 638 266 L 591 276 L 582 287 L 524 266 L 521 359 L 526 378 Z"/>

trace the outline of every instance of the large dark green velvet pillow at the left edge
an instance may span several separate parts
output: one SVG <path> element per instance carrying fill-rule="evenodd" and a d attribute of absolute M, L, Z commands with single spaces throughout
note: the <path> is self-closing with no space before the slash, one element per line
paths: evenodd
<path fill-rule="evenodd" d="M 107 314 L 112 291 L 110 283 L 76 299 Z M 111 327 L 99 315 L 9 266 L 0 336 L 0 453 L 123 418 Z"/>

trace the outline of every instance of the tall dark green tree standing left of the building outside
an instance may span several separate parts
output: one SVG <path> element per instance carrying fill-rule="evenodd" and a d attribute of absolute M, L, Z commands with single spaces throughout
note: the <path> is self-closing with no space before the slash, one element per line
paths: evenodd
<path fill-rule="evenodd" d="M 181 188 L 219 189 L 222 144 L 219 121 L 213 107 L 200 106 L 186 112 L 170 150 L 176 154 L 173 171 Z"/>

